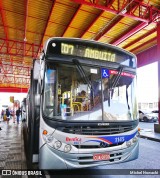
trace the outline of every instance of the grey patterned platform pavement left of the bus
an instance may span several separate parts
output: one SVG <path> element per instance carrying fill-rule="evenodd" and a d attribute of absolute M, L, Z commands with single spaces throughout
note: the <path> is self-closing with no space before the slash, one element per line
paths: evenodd
<path fill-rule="evenodd" d="M 26 170 L 22 123 L 0 122 L 0 170 Z M 3 171 L 4 173 L 4 171 Z M 4 173 L 5 174 L 5 173 Z M 6 175 L 2 177 L 6 178 Z M 7 173 L 7 175 L 9 175 Z M 0 176 L 1 177 L 1 176 Z M 12 176 L 7 176 L 12 177 Z M 22 177 L 22 176 L 16 176 Z M 24 176 L 23 176 L 24 177 Z"/>

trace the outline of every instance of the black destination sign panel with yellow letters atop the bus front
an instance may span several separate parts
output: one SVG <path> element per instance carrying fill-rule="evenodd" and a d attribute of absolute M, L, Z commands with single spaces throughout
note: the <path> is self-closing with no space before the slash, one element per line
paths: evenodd
<path fill-rule="evenodd" d="M 53 39 L 48 43 L 46 56 L 58 55 L 85 59 L 116 62 L 121 65 L 136 67 L 136 58 L 128 52 L 114 46 L 80 39 Z M 73 56 L 73 57 L 72 57 Z"/>

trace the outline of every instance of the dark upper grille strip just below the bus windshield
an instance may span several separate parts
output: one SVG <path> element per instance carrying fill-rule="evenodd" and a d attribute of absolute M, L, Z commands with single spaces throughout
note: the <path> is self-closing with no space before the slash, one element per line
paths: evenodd
<path fill-rule="evenodd" d="M 57 128 L 65 133 L 80 134 L 80 135 L 112 135 L 133 130 L 136 127 L 134 124 L 113 124 L 107 126 L 66 126 Z"/>

